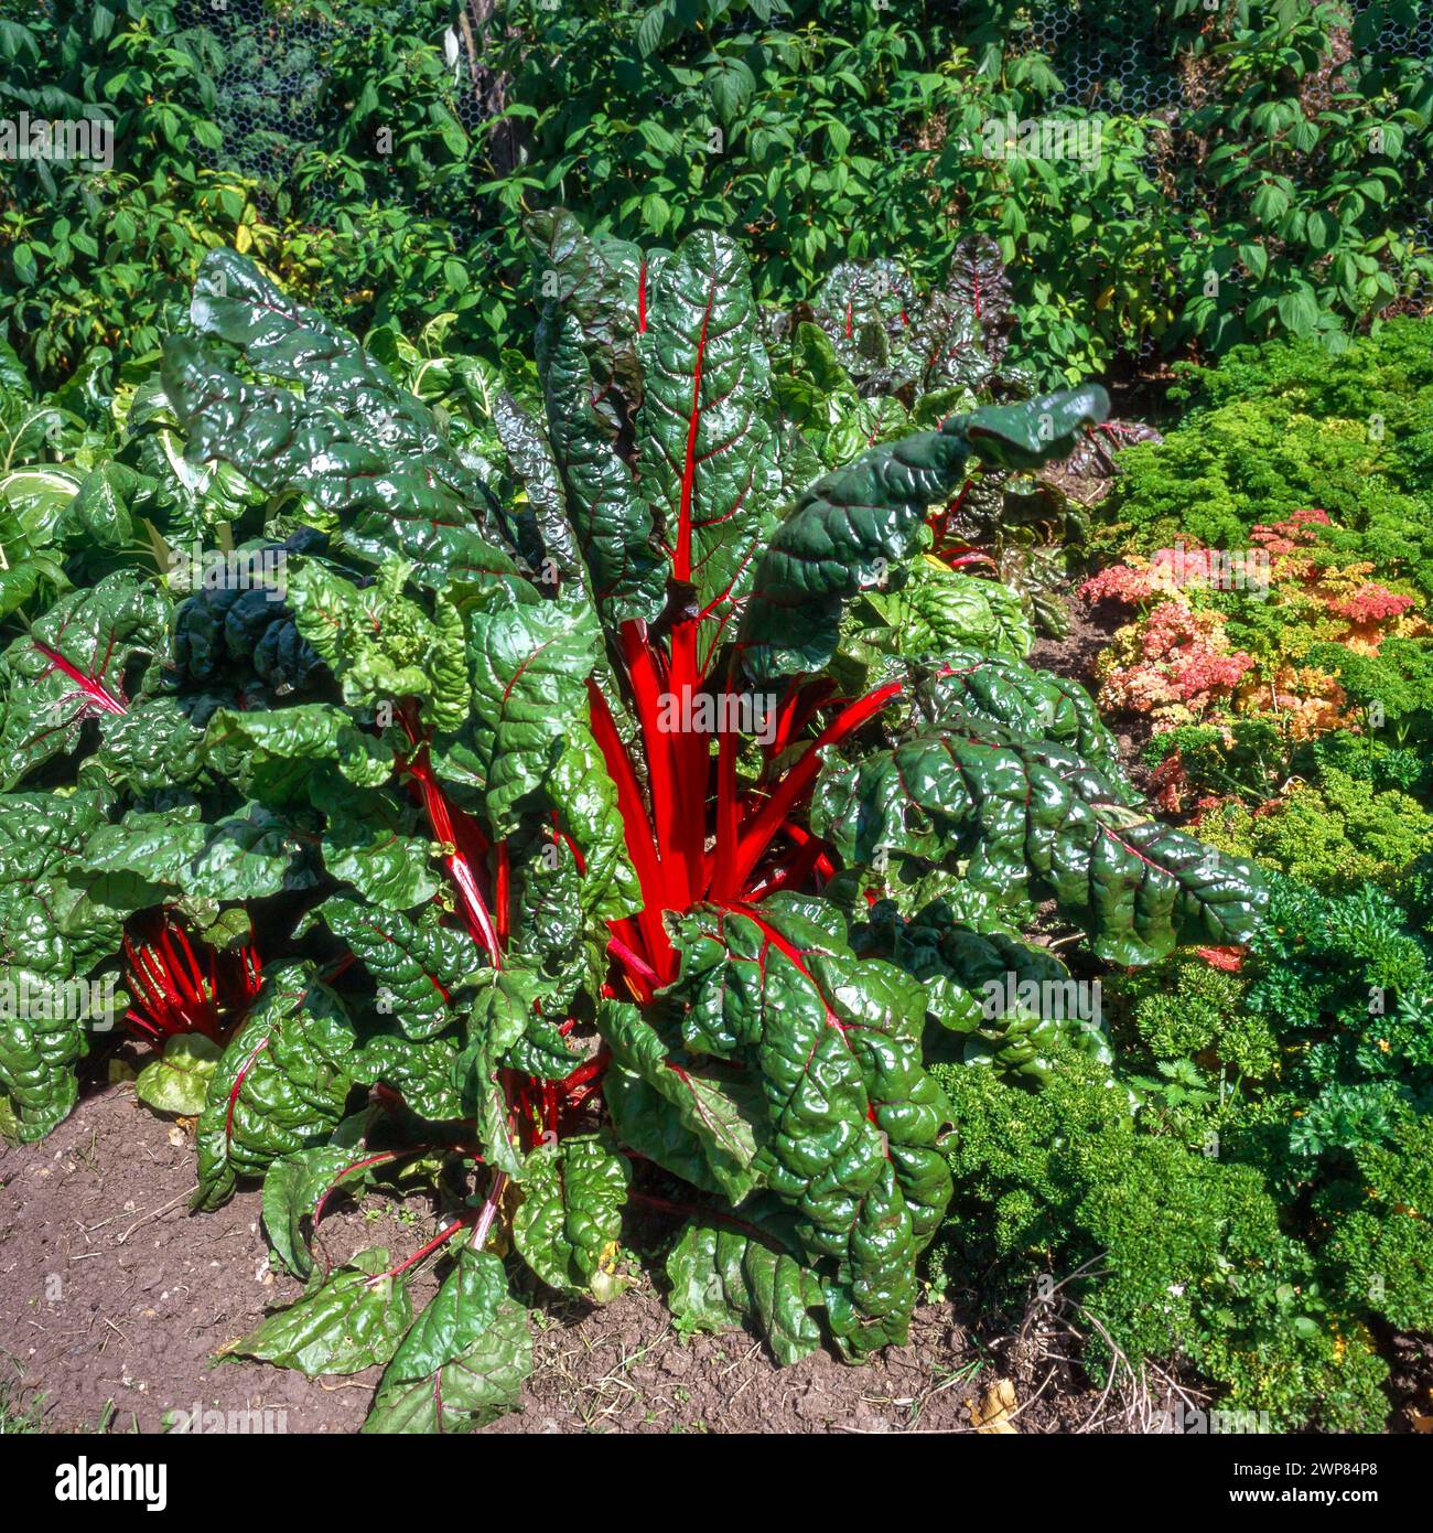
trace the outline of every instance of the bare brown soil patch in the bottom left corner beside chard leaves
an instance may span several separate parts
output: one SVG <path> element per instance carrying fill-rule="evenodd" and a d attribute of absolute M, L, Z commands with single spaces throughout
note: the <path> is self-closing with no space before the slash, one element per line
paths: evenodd
<path fill-rule="evenodd" d="M 48 1429 L 159 1432 L 196 1401 L 282 1410 L 299 1432 L 363 1420 L 371 1381 L 325 1389 L 256 1363 L 213 1366 L 299 1285 L 270 1271 L 257 1190 L 189 1216 L 193 1144 L 132 1085 L 97 1091 L 41 1144 L 0 1154 L 0 1348 L 18 1389 L 46 1397 Z"/>

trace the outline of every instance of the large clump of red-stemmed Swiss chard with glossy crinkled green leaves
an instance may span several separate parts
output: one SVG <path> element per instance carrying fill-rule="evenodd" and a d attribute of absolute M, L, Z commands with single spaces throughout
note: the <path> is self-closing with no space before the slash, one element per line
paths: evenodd
<path fill-rule="evenodd" d="M 124 950 L 146 1030 L 207 1035 L 166 1055 L 167 1091 L 198 1082 L 195 1208 L 262 1177 L 308 1285 L 230 1349 L 383 1364 L 374 1432 L 510 1404 L 521 1268 L 610 1298 L 642 1208 L 684 1220 L 684 1329 L 782 1361 L 904 1340 L 952 1194 L 927 1064 L 1028 1078 L 1041 1027 L 1108 1059 L 1091 1024 L 979 1004 L 1065 973 L 1036 909 L 1140 964 L 1248 940 L 1264 900 L 1143 809 L 1001 587 L 923 552 L 976 461 L 1067 457 L 1102 389 L 826 468 L 730 239 L 527 238 L 536 382 L 492 391 L 489 458 L 208 256 L 147 408 L 265 507 L 282 589 L 176 601 L 121 561 L 0 658 L 6 963 Z M 80 1023 L 5 1023 L 12 1136 L 64 1116 L 81 1052 Z M 323 1214 L 374 1183 L 446 1222 L 334 1268 Z"/>

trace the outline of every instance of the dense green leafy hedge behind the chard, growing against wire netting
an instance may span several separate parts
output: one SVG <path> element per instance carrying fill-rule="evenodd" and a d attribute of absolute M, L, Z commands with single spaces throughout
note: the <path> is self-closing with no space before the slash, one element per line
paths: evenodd
<path fill-rule="evenodd" d="M 929 287 L 989 235 L 1051 382 L 1338 346 L 1433 273 L 1422 11 L 6 0 L 0 104 L 109 113 L 116 162 L 5 167 L 0 323 L 60 382 L 172 328 L 238 241 L 359 328 L 454 311 L 494 340 L 529 322 L 520 216 L 566 201 L 644 244 L 733 230 L 780 302 L 849 258 Z M 1031 121 L 1099 153 L 1030 158 Z"/>

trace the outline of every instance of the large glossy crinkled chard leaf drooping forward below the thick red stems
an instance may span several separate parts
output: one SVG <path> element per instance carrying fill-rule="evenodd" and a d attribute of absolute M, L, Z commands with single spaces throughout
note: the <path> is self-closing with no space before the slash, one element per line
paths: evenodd
<path fill-rule="evenodd" d="M 852 1352 L 903 1340 L 915 1257 L 950 1197 L 950 1107 L 921 1065 L 918 987 L 858 960 L 820 900 L 699 908 L 679 937 L 687 1044 L 759 1072 L 769 1137 L 756 1165 L 808 1259 L 832 1266 L 832 1329 Z"/>

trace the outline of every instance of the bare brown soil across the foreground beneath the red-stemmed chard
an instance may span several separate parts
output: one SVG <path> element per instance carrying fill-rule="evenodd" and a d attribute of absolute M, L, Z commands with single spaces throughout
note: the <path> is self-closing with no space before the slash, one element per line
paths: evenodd
<path fill-rule="evenodd" d="M 270 1266 L 256 1188 L 192 1217 L 193 1187 L 192 1141 L 127 1082 L 92 1088 L 41 1144 L 0 1153 L 0 1384 L 12 1406 L 41 1395 L 52 1432 L 159 1432 L 196 1406 L 268 1410 L 288 1432 L 356 1430 L 377 1369 L 310 1383 L 215 1363 L 300 1286 Z M 336 1262 L 371 1245 L 397 1260 L 432 1233 L 432 1213 L 374 1194 L 323 1228 Z M 536 1367 L 521 1409 L 489 1430 L 972 1432 L 972 1404 L 1001 1378 L 1019 1432 L 1099 1430 L 1108 1416 L 1076 1369 L 975 1337 L 944 1305 L 923 1306 L 910 1344 L 864 1367 L 818 1352 L 779 1369 L 746 1332 L 679 1335 L 657 1282 L 644 1274 L 602 1309 L 532 1295 Z"/>

